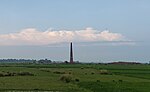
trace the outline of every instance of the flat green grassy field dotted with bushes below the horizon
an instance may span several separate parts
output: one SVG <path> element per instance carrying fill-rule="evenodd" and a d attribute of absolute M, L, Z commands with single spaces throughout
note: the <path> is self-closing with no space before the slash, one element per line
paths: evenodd
<path fill-rule="evenodd" d="M 1 64 L 0 91 L 150 92 L 150 65 Z"/>

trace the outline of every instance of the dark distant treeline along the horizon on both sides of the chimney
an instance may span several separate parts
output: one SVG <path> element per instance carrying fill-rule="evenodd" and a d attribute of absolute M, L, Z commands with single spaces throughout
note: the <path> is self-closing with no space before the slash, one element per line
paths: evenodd
<path fill-rule="evenodd" d="M 52 61 L 49 59 L 40 59 L 40 60 L 36 60 L 36 59 L 0 59 L 0 63 L 28 63 L 28 64 L 69 64 L 70 62 L 68 61 Z M 79 62 L 79 61 L 74 61 L 74 64 L 82 64 L 83 62 Z M 124 62 L 124 61 L 118 61 L 118 62 L 110 62 L 110 63 L 86 63 L 84 62 L 84 64 L 116 64 L 116 65 L 135 65 L 135 64 L 150 64 L 150 63 L 140 63 L 140 62 Z"/>

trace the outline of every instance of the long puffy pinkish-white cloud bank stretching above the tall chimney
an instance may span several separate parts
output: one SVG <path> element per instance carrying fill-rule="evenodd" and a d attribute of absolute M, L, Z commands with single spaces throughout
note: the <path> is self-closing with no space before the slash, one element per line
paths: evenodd
<path fill-rule="evenodd" d="M 47 30 L 24 29 L 18 33 L 0 34 L 0 45 L 49 45 L 64 42 L 123 41 L 120 33 L 108 30 L 98 31 L 92 28 L 83 30 Z"/>

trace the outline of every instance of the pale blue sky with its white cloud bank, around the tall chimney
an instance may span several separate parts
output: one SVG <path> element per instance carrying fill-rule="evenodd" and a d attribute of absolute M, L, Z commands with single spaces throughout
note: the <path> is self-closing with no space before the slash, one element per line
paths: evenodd
<path fill-rule="evenodd" d="M 150 61 L 149 0 L 0 0 L 0 58 Z"/>

